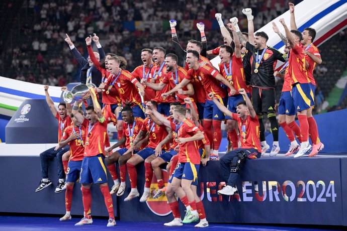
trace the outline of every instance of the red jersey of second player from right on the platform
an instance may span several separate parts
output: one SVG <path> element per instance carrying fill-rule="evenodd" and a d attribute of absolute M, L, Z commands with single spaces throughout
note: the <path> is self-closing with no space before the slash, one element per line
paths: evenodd
<path fill-rule="evenodd" d="M 299 83 L 310 83 L 306 70 L 306 60 L 303 49 L 295 44 L 295 47 L 290 50 L 289 55 L 289 72 L 291 74 L 292 85 Z"/>

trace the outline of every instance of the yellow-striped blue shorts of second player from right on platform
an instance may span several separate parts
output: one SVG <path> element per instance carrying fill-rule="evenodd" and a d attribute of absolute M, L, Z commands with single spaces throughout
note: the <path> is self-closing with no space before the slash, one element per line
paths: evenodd
<path fill-rule="evenodd" d="M 311 93 L 312 90 L 309 83 L 296 83 L 293 85 L 292 96 L 297 111 L 311 107 Z"/>

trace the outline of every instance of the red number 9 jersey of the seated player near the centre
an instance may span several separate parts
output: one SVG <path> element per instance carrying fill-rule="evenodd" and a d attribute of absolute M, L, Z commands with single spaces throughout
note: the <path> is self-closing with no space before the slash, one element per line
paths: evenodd
<path fill-rule="evenodd" d="M 165 126 L 159 126 L 149 118 L 144 119 L 141 131 L 149 136 L 149 143 L 147 147 L 154 149 L 163 139 L 165 139 L 168 134 Z M 162 146 L 161 149 L 164 149 L 166 151 L 170 150 L 169 142 Z"/>

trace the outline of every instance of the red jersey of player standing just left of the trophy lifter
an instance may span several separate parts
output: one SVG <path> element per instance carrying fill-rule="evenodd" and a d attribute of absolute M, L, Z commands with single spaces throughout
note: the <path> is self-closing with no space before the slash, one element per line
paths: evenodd
<path fill-rule="evenodd" d="M 84 153 L 84 142 L 85 142 L 85 128 L 80 126 L 79 128 L 73 127 L 70 125 L 64 130 L 62 139 L 67 140 L 72 133 L 80 134 L 80 137 L 70 141 L 70 160 L 72 161 L 80 161 L 83 159 Z"/>

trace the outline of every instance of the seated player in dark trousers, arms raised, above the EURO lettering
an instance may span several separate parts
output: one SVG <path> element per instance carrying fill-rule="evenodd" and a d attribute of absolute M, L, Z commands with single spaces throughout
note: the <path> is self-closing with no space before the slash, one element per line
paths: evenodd
<path fill-rule="evenodd" d="M 236 112 L 229 111 L 223 104 L 219 102 L 210 93 L 209 96 L 218 108 L 223 111 L 228 117 L 237 121 L 239 130 L 241 131 L 241 148 L 232 150 L 220 158 L 220 166 L 223 173 L 226 186 L 218 190 L 218 194 L 233 195 L 236 191 L 234 187 L 240 171 L 241 164 L 248 159 L 257 159 L 262 156 L 262 147 L 259 140 L 259 121 L 255 110 L 248 98 L 244 89 L 238 90 L 243 95 L 245 101 L 237 103 Z"/>

